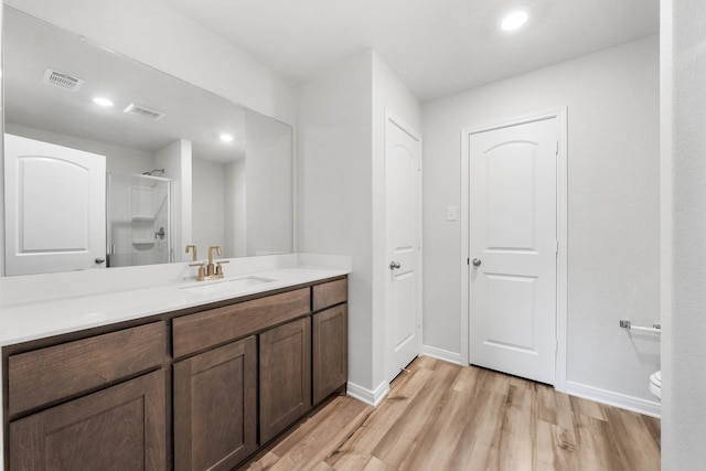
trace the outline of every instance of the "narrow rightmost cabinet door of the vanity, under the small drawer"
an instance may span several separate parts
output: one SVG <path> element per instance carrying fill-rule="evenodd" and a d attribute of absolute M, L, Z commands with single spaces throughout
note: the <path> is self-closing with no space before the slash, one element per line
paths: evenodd
<path fill-rule="evenodd" d="M 347 307 L 313 314 L 313 403 L 345 385 L 349 372 Z"/>

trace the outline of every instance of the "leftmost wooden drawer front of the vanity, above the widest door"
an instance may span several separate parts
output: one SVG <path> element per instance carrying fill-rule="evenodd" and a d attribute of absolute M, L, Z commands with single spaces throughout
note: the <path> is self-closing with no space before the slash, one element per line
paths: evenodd
<path fill-rule="evenodd" d="M 10 415 L 145 372 L 165 355 L 163 321 L 12 355 Z"/>

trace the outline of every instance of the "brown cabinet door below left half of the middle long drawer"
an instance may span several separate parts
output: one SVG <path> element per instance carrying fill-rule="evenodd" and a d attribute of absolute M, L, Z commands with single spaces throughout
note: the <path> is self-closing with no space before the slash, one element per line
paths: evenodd
<path fill-rule="evenodd" d="M 229 470 L 257 449 L 255 336 L 174 364 L 174 469 Z"/>

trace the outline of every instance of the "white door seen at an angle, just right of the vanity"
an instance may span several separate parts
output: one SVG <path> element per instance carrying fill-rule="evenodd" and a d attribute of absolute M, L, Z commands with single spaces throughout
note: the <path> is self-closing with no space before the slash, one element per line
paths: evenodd
<path fill-rule="evenodd" d="M 385 122 L 387 379 L 421 353 L 421 141 L 388 116 Z"/>

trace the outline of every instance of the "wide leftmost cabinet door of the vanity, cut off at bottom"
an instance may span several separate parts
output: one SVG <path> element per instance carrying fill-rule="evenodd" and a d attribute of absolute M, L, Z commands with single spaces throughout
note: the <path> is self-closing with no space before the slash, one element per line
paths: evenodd
<path fill-rule="evenodd" d="M 10 470 L 164 470 L 164 372 L 10 422 Z"/>

